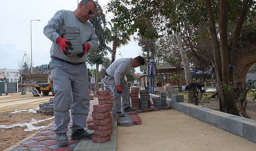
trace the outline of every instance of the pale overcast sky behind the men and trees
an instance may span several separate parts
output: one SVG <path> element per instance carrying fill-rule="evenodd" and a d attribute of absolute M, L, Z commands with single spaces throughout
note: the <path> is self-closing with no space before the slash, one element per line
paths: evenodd
<path fill-rule="evenodd" d="M 109 0 L 98 2 L 104 8 Z M 48 64 L 52 41 L 44 35 L 43 29 L 58 10 L 74 11 L 76 8 L 77 0 L 4 0 L 0 9 L 0 69 L 20 69 L 23 57 L 24 62 L 31 60 L 31 45 L 33 67 Z M 40 21 L 31 21 L 36 19 Z M 110 21 L 109 13 L 106 19 Z M 140 49 L 131 38 L 128 45 L 117 48 L 116 59 L 121 56 L 134 58 L 139 55 Z M 111 54 L 108 57 L 111 58 Z M 136 72 L 139 72 L 139 68 L 136 68 Z"/>

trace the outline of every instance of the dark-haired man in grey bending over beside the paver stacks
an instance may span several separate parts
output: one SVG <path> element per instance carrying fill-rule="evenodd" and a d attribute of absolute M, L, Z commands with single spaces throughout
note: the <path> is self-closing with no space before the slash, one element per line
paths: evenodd
<path fill-rule="evenodd" d="M 115 60 L 106 70 L 105 81 L 113 92 L 114 105 L 118 117 L 125 116 L 125 114 L 121 112 L 121 107 L 125 113 L 137 110 L 137 108 L 131 108 L 131 106 L 129 106 L 128 98 L 130 90 L 125 80 L 125 75 L 129 73 L 132 68 L 137 68 L 144 64 L 145 59 L 142 56 L 137 56 L 136 58 L 121 58 Z"/>

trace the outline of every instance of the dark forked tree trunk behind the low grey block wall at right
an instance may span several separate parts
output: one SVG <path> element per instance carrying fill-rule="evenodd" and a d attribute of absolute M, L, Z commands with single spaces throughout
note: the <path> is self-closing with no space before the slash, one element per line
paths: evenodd
<path fill-rule="evenodd" d="M 220 0 L 220 49 L 216 34 L 216 26 L 210 0 L 206 0 L 206 8 L 210 23 L 210 34 L 214 52 L 213 66 L 216 72 L 218 84 L 219 108 L 222 112 L 238 115 L 238 108 L 231 93 L 223 90 L 222 85 L 230 85 L 228 68 L 228 49 L 227 49 L 227 19 L 226 19 L 226 1 Z"/>

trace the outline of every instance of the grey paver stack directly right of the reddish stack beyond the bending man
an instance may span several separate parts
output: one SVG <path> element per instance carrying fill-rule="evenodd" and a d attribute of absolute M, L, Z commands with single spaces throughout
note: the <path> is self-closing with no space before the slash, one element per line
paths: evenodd
<path fill-rule="evenodd" d="M 150 96 L 148 90 L 140 90 L 140 109 L 145 110 L 151 107 Z"/>

